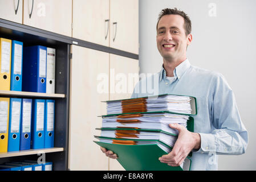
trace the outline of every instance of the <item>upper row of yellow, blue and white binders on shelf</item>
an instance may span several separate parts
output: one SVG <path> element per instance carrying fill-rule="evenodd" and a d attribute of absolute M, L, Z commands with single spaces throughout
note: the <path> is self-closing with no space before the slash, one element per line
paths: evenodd
<path fill-rule="evenodd" d="M 0 38 L 0 90 L 55 93 L 55 48 Z"/>

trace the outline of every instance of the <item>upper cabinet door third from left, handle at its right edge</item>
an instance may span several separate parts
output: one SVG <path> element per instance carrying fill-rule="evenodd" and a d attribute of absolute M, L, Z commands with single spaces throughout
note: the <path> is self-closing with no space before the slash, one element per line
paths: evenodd
<path fill-rule="evenodd" d="M 74 0 L 72 36 L 109 46 L 109 0 Z"/>

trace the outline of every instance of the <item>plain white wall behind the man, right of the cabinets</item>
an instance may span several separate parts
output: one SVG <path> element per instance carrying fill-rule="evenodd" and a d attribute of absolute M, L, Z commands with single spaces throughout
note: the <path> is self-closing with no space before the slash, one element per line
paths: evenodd
<path fill-rule="evenodd" d="M 156 23 L 166 7 L 184 10 L 192 20 L 191 64 L 222 73 L 233 89 L 249 132 L 243 155 L 220 155 L 219 170 L 256 169 L 256 1 L 140 0 L 140 73 L 156 73 L 162 59 L 156 47 Z"/>

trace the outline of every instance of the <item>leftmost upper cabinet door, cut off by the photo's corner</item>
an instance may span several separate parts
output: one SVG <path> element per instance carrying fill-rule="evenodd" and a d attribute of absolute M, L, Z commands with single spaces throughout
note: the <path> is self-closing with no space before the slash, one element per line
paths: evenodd
<path fill-rule="evenodd" d="M 22 0 L 0 0 L 0 18 L 22 23 Z"/>

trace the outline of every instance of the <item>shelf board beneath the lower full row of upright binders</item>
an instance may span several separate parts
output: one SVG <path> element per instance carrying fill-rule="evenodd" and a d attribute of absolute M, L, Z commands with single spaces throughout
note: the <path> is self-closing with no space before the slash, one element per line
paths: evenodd
<path fill-rule="evenodd" d="M 14 156 L 33 155 L 33 154 L 42 154 L 42 153 L 50 153 L 50 152 L 62 152 L 62 151 L 64 151 L 64 148 L 62 147 L 22 150 L 22 151 L 15 151 L 15 152 L 0 153 L 0 158 L 9 158 Z"/>

